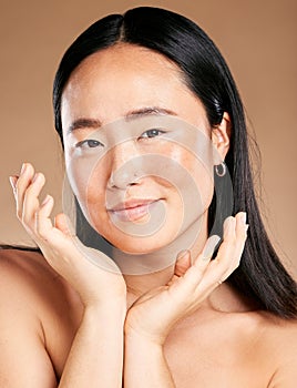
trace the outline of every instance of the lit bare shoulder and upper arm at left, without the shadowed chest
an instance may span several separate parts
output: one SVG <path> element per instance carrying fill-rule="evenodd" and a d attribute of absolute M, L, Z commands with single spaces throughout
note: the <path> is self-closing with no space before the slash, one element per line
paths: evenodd
<path fill-rule="evenodd" d="M 57 275 L 39 253 L 19 249 L 0 249 L 0 386 L 55 387 L 43 317 Z"/>

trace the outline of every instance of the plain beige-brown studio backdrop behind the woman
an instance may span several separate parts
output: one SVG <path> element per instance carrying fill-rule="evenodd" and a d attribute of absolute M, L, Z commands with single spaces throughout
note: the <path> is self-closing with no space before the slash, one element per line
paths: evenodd
<path fill-rule="evenodd" d="M 263 156 L 263 202 L 269 234 L 297 275 L 296 0 L 0 2 L 0 241 L 30 244 L 14 216 L 8 176 L 30 161 L 59 200 L 62 154 L 53 131 L 51 88 L 72 40 L 106 13 L 156 6 L 205 29 L 225 55 L 253 122 Z M 61 210 L 58 201 L 57 211 Z"/>

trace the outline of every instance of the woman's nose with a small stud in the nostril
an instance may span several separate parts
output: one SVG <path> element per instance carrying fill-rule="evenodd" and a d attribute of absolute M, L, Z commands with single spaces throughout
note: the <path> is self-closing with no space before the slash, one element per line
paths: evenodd
<path fill-rule="evenodd" d="M 122 188 L 140 183 L 142 155 L 133 140 L 115 145 L 111 152 L 109 188 Z"/>

